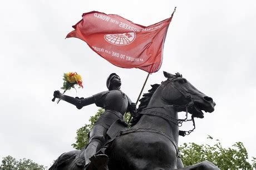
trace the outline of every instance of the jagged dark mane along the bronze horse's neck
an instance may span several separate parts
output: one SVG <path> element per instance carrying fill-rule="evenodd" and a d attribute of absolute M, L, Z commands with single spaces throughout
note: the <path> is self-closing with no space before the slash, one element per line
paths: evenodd
<path fill-rule="evenodd" d="M 149 104 L 149 101 L 150 101 L 152 95 L 154 94 L 157 87 L 159 87 L 159 86 L 160 86 L 160 84 L 151 85 L 152 88 L 149 90 L 149 92 L 142 95 L 141 99 L 139 100 L 140 105 L 139 105 L 139 108 L 137 109 L 137 112 L 140 112 L 142 109 L 147 107 L 147 104 Z M 138 113 L 132 115 L 131 126 L 134 126 L 140 120 L 141 116 L 142 115 L 138 114 Z"/>

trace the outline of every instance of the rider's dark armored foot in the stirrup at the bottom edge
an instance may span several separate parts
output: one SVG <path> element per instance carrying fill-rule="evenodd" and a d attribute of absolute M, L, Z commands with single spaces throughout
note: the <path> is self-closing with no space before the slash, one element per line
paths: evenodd
<path fill-rule="evenodd" d="M 107 163 L 109 163 L 109 157 L 106 154 L 97 154 L 92 156 L 90 163 L 86 167 L 86 170 L 108 170 Z"/>

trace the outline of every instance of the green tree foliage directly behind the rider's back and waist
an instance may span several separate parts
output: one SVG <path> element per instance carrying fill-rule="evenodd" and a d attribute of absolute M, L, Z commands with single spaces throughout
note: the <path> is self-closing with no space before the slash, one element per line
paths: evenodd
<path fill-rule="evenodd" d="M 89 121 L 90 124 L 87 125 L 85 124 L 85 126 L 79 128 L 76 131 L 76 143 L 72 143 L 73 148 L 75 148 L 76 150 L 81 150 L 83 147 L 85 147 L 88 143 L 88 133 L 92 130 L 92 127 L 94 125 L 94 123 L 96 122 L 96 120 L 100 117 L 100 115 L 102 115 L 104 112 L 104 109 L 99 109 L 97 111 L 97 113 L 95 114 L 95 116 L 91 116 Z M 129 121 L 129 117 L 130 117 L 130 113 L 126 113 L 125 114 L 125 121 L 128 122 Z"/>

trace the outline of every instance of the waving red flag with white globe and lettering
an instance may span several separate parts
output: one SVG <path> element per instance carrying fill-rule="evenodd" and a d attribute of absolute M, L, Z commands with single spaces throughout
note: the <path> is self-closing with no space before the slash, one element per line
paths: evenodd
<path fill-rule="evenodd" d="M 115 14 L 92 11 L 82 15 L 67 38 L 80 38 L 116 66 L 154 73 L 161 67 L 164 41 L 173 14 L 145 27 Z"/>

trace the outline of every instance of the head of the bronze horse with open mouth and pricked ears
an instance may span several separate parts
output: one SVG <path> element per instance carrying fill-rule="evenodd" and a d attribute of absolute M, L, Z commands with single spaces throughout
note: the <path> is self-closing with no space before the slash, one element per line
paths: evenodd
<path fill-rule="evenodd" d="M 203 118 L 202 112 L 213 112 L 215 102 L 209 96 L 196 89 L 179 73 L 175 75 L 164 71 L 166 81 L 162 82 L 161 98 L 169 105 L 175 105 L 176 111 L 187 111 L 194 117 Z M 184 106 L 184 107 L 183 107 Z"/>

